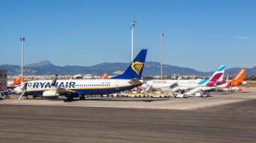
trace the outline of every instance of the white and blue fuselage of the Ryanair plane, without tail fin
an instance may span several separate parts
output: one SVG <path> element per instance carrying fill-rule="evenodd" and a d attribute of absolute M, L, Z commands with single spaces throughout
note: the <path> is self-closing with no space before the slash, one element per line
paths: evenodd
<path fill-rule="evenodd" d="M 58 80 L 56 86 L 75 91 L 78 95 L 102 95 L 130 90 L 142 84 L 129 84 L 127 79 L 77 79 Z M 26 91 L 29 95 L 40 95 L 43 91 L 53 90 L 50 80 L 28 81 Z"/>

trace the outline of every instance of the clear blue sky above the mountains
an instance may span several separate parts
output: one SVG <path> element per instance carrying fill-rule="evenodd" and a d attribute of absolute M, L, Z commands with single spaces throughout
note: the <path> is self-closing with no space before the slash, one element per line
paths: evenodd
<path fill-rule="evenodd" d="M 130 62 L 148 49 L 146 61 L 198 71 L 256 66 L 256 1 L 0 1 L 0 64 L 50 60 L 91 66 Z"/>

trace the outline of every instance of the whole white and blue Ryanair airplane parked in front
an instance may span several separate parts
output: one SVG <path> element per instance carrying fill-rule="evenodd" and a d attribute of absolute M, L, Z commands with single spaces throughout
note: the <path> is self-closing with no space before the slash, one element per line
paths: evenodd
<path fill-rule="evenodd" d="M 105 95 L 131 90 L 143 84 L 141 79 L 146 52 L 146 49 L 141 50 L 123 74 L 111 79 L 57 80 L 57 76 L 55 76 L 53 81 L 28 81 L 24 84 L 21 96 L 18 99 L 20 100 L 23 96 L 28 95 L 33 95 L 33 98 L 40 95 L 46 98 L 65 96 L 69 101 L 73 101 L 73 98 L 78 97 L 80 97 L 80 100 L 85 100 L 87 95 Z M 17 87 L 14 91 L 21 92 L 21 88 Z"/>

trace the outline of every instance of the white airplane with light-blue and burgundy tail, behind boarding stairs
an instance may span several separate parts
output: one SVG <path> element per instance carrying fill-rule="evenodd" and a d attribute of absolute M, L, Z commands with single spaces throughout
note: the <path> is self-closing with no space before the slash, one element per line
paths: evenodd
<path fill-rule="evenodd" d="M 198 86 L 213 86 L 216 81 L 220 81 L 225 71 L 225 65 L 221 65 L 210 77 L 210 79 L 195 79 L 195 80 L 150 80 L 145 81 L 142 85 L 144 90 L 160 89 L 162 92 L 186 90 L 196 88 Z M 222 80 L 222 79 L 221 79 Z M 174 89 L 175 88 L 175 89 Z"/>

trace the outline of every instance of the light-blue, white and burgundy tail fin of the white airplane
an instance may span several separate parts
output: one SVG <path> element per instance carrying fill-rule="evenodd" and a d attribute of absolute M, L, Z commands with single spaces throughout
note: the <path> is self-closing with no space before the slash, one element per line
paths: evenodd
<path fill-rule="evenodd" d="M 204 83 L 204 86 L 213 86 L 218 79 L 220 79 L 225 71 L 225 65 L 221 65 L 212 76 L 210 76 L 210 79 Z"/>

